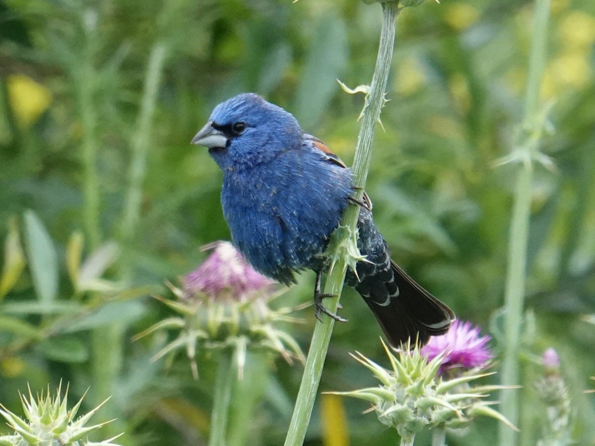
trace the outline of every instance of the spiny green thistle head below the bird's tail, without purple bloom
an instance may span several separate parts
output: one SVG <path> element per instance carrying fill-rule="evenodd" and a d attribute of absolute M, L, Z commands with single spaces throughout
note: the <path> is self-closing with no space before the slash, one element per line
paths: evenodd
<path fill-rule="evenodd" d="M 395 356 L 384 345 L 392 369 L 385 369 L 360 353 L 353 356 L 374 373 L 381 385 L 333 393 L 371 402 L 380 422 L 397 429 L 405 441 L 412 441 L 424 428 L 463 428 L 478 415 L 493 417 L 513 428 L 502 414 L 491 409 L 493 401 L 484 400 L 488 392 L 502 387 L 469 385 L 490 373 L 472 369 L 456 378 L 443 379 L 437 372 L 443 364 L 444 353 L 428 359 L 418 347 L 413 350 L 409 347 L 403 346 Z"/>

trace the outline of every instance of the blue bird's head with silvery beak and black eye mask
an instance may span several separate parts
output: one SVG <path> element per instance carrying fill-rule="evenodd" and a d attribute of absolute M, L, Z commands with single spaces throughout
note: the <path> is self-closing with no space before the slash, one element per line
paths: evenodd
<path fill-rule="evenodd" d="M 208 147 L 223 171 L 236 171 L 299 147 L 301 138 L 292 114 L 254 93 L 242 93 L 215 107 L 192 144 Z"/>

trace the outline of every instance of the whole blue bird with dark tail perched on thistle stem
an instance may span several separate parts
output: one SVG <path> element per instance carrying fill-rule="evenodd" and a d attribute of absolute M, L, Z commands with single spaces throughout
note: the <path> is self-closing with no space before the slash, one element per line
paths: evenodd
<path fill-rule="evenodd" d="M 254 93 L 217 105 L 193 144 L 206 146 L 223 171 L 221 205 L 236 247 L 256 270 L 284 284 L 305 268 L 317 273 L 314 299 L 322 305 L 322 256 L 343 209 L 353 202 L 352 171 L 292 114 Z M 372 221 L 367 196 L 358 202 L 358 248 L 367 261 L 347 271 L 390 344 L 425 344 L 448 331 L 453 312 L 390 259 Z"/>

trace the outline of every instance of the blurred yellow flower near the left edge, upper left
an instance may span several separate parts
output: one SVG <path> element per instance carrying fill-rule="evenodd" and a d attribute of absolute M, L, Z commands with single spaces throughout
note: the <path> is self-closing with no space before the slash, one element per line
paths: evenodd
<path fill-rule="evenodd" d="M 7 87 L 12 111 L 21 128 L 35 123 L 52 102 L 49 89 L 23 74 L 8 76 Z"/>

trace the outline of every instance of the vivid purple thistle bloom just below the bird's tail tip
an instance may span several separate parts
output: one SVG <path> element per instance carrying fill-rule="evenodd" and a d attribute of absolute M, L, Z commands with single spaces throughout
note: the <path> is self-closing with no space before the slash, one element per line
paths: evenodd
<path fill-rule="evenodd" d="M 486 345 L 490 339 L 488 335 L 480 336 L 480 329 L 472 326 L 471 322 L 455 321 L 446 334 L 431 337 L 422 348 L 422 354 L 427 355 L 430 361 L 444 354 L 439 370 L 441 375 L 455 368 L 472 369 L 486 365 L 491 359 Z"/>

